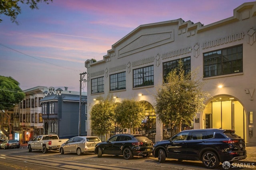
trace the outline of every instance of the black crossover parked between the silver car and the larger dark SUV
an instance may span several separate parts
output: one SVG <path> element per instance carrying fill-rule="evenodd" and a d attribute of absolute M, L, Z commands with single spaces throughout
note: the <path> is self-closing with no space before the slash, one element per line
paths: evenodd
<path fill-rule="evenodd" d="M 112 154 L 123 155 L 125 159 L 132 159 L 133 156 L 149 157 L 152 149 L 153 143 L 146 136 L 118 134 L 106 142 L 96 144 L 94 153 L 98 154 L 98 157 L 102 157 L 102 154 Z"/>

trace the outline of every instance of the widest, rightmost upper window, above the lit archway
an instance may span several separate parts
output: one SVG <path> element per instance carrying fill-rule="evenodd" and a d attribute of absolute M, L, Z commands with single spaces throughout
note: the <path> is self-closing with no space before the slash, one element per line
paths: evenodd
<path fill-rule="evenodd" d="M 204 77 L 243 72 L 243 46 L 204 53 Z"/>

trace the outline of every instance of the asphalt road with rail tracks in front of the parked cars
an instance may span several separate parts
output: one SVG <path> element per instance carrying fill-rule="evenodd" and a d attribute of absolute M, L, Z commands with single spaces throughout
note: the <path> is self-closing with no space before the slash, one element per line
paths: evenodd
<path fill-rule="evenodd" d="M 40 150 L 28 152 L 26 147 L 20 149 L 0 150 L 1 170 L 203 170 L 206 169 L 201 161 L 178 161 L 166 159 L 159 163 L 157 158 L 136 157 L 125 160 L 122 156 L 103 155 L 98 158 L 96 154 L 87 153 L 81 156 L 76 154 L 60 154 L 50 151 L 43 154 Z M 217 169 L 221 169 L 222 165 Z M 230 168 L 231 170 L 255 170 L 255 167 Z"/>

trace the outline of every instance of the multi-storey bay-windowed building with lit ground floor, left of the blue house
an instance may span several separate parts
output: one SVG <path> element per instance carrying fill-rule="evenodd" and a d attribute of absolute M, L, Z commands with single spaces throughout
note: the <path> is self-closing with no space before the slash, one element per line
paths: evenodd
<path fill-rule="evenodd" d="M 14 138 L 20 143 L 26 143 L 37 135 L 44 133 L 42 107 L 40 100 L 44 97 L 44 86 L 23 90 L 26 97 L 14 107 Z"/>

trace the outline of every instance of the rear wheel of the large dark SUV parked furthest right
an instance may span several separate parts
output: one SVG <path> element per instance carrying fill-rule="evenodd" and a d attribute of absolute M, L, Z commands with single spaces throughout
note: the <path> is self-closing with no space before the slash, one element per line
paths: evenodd
<path fill-rule="evenodd" d="M 216 166 L 219 166 L 220 161 L 218 159 L 218 156 L 211 151 L 204 152 L 202 155 L 202 162 L 206 168 L 216 168 Z"/>

